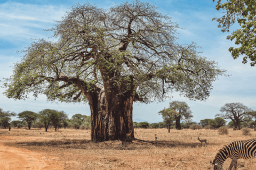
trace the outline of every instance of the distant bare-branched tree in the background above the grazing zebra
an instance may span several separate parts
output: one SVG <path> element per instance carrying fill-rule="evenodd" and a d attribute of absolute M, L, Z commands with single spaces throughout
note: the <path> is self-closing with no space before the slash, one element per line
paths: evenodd
<path fill-rule="evenodd" d="M 231 119 L 234 123 L 234 130 L 237 128 L 240 130 L 240 123 L 246 121 L 246 114 L 251 111 L 251 108 L 248 108 L 242 103 L 227 103 L 220 108 L 220 112 L 222 113 L 215 116 Z"/>

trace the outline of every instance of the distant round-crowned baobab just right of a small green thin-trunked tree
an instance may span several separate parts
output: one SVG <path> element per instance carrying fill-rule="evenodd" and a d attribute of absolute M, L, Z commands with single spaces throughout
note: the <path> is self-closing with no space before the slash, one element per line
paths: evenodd
<path fill-rule="evenodd" d="M 177 130 L 181 130 L 180 121 L 182 119 L 185 120 L 193 117 L 192 111 L 185 101 L 172 101 L 169 103 L 169 108 L 171 111 L 177 112 L 177 114 L 173 114 L 173 118 L 175 119 L 175 128 Z"/>

